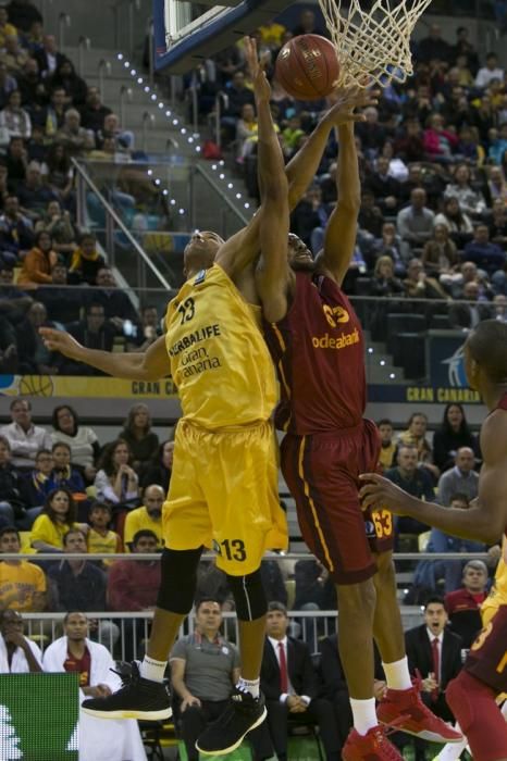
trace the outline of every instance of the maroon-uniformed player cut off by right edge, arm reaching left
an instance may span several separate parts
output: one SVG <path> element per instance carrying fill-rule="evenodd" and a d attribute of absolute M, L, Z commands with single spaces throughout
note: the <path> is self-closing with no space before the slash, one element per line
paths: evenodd
<path fill-rule="evenodd" d="M 483 465 L 474 504 L 457 510 L 421 502 L 371 473 L 361 476 L 370 482 L 362 487 L 361 498 L 367 510 L 388 507 L 446 534 L 494 544 L 507 535 L 507 325 L 495 320 L 480 323 L 467 339 L 465 361 L 470 387 L 490 410 L 481 429 Z M 506 691 L 507 603 L 503 603 L 446 690 L 475 761 L 507 760 L 507 724 L 495 702 Z"/>

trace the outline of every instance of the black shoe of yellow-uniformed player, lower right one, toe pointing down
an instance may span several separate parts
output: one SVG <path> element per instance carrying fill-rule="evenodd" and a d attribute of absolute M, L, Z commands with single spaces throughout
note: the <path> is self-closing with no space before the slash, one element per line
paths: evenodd
<path fill-rule="evenodd" d="M 196 748 L 203 756 L 226 756 L 242 745 L 243 738 L 264 721 L 264 697 L 234 689 L 228 706 L 200 735 Z"/>

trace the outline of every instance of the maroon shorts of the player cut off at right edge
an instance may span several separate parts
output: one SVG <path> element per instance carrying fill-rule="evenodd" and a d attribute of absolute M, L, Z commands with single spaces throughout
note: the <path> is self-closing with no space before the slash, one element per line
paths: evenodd
<path fill-rule="evenodd" d="M 478 636 L 463 669 L 495 695 L 507 693 L 507 606 L 500 606 Z"/>

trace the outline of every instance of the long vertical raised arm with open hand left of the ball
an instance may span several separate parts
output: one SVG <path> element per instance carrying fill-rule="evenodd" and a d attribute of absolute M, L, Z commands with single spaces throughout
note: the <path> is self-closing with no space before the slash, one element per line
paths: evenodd
<path fill-rule="evenodd" d="M 250 70 L 255 70 L 257 48 L 248 40 L 246 52 Z M 271 88 L 259 65 L 255 71 L 258 132 L 258 174 L 262 219 L 259 229 L 260 259 L 256 285 L 262 311 L 270 322 L 282 320 L 287 311 L 287 286 L 292 273 L 287 261 L 288 183 L 284 158 L 270 109 Z"/>

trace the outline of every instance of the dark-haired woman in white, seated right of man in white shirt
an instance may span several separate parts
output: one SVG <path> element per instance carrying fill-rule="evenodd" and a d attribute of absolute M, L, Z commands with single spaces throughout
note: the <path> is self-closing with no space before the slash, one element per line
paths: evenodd
<path fill-rule="evenodd" d="M 92 428 L 79 424 L 79 417 L 74 408 L 69 404 L 55 407 L 52 414 L 51 439 L 53 442 L 64 441 L 71 447 L 71 463 L 82 471 L 89 483 L 96 476 L 95 461 L 100 446 L 97 434 Z"/>

